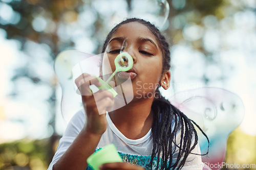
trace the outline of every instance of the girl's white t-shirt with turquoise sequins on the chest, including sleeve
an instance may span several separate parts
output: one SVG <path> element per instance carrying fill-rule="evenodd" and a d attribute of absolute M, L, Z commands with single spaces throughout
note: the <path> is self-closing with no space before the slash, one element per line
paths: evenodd
<path fill-rule="evenodd" d="M 102 134 L 100 141 L 97 145 L 96 151 L 100 148 L 105 147 L 105 145 L 114 143 L 117 148 L 117 151 L 119 152 L 119 154 L 123 156 L 123 158 L 124 156 L 125 159 L 130 158 L 131 160 L 129 160 L 129 162 L 144 159 L 143 164 L 140 164 L 140 162 L 138 162 L 138 165 L 147 168 L 148 165 L 146 164 L 150 162 L 153 149 L 152 131 L 148 131 L 147 134 L 142 138 L 133 140 L 125 137 L 116 128 L 108 113 L 106 113 L 106 120 L 108 122 L 108 127 L 106 128 L 106 131 Z M 85 121 L 86 118 L 83 110 L 80 110 L 73 116 L 73 118 L 70 120 L 69 125 L 67 126 L 65 133 L 59 140 L 57 151 L 53 157 L 51 164 L 49 165 L 48 170 L 51 170 L 53 164 L 57 162 L 57 160 L 63 155 L 63 153 L 67 151 L 71 143 L 74 141 L 76 136 L 83 128 Z M 179 136 L 179 134 L 180 131 L 178 132 L 177 136 Z M 176 140 L 179 141 L 178 139 Z M 199 144 L 196 145 L 196 148 L 191 153 L 201 154 Z M 174 152 L 173 161 L 175 161 L 175 158 L 177 158 L 177 154 L 178 152 Z M 189 156 L 186 159 L 185 165 L 182 167 L 182 169 L 202 169 L 203 163 L 201 156 L 195 154 L 189 154 Z"/>

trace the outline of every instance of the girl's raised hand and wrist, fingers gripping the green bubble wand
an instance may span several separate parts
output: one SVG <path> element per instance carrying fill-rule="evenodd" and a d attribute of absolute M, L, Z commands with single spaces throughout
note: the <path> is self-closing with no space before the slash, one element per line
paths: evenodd
<path fill-rule="evenodd" d="M 113 94 L 103 89 L 92 94 L 89 86 L 94 84 L 100 87 L 101 84 L 95 77 L 89 74 L 82 74 L 75 80 L 75 83 L 82 96 L 82 104 L 87 116 L 84 130 L 91 134 L 102 135 L 107 126 L 105 113 L 114 104 Z"/>

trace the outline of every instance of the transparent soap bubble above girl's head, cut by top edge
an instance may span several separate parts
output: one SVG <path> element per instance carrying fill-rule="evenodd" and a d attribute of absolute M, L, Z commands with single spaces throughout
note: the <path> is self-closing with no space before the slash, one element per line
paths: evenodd
<path fill-rule="evenodd" d="M 166 0 L 133 0 L 129 17 L 145 19 L 158 29 L 163 29 L 169 15 L 169 4 Z"/>

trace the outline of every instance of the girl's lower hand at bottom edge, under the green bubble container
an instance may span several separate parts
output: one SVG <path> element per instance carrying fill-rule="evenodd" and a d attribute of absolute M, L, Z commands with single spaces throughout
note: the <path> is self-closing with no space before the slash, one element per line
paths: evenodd
<path fill-rule="evenodd" d="M 130 170 L 145 170 L 141 166 L 133 165 L 131 163 L 124 163 L 124 162 L 115 162 L 115 163 L 105 163 L 100 165 L 100 170 L 107 170 L 107 169 L 130 169 Z"/>

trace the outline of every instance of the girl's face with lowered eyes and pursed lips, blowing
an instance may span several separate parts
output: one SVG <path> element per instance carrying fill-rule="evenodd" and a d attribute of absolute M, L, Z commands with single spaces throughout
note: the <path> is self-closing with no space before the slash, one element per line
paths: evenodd
<path fill-rule="evenodd" d="M 122 45 L 124 44 L 123 49 Z M 122 52 L 129 53 L 134 60 L 133 68 L 120 72 L 115 81 L 131 77 L 134 98 L 154 97 L 155 90 L 162 77 L 162 51 L 158 41 L 151 31 L 139 22 L 129 22 L 121 25 L 106 46 L 102 62 L 102 75 L 115 71 L 114 60 Z M 111 68 L 106 66 L 110 62 Z M 152 95 L 153 94 L 153 95 Z"/>

